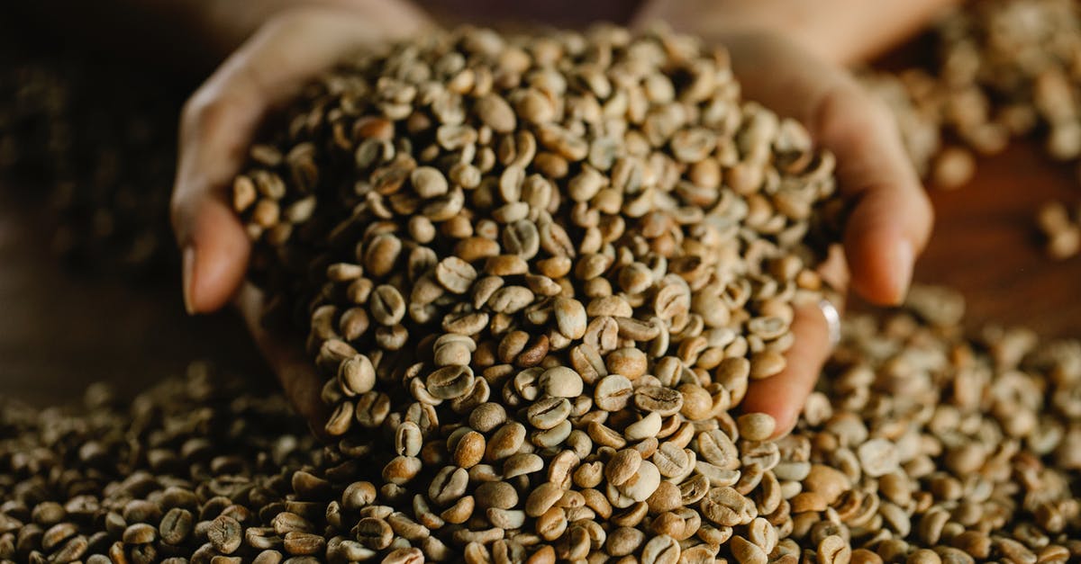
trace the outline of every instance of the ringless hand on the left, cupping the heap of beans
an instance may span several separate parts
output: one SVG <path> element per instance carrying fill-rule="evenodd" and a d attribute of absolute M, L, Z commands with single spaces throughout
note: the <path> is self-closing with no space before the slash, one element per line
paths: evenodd
<path fill-rule="evenodd" d="M 208 313 L 232 303 L 285 397 L 316 431 L 326 420 L 322 378 L 303 336 L 261 323 L 263 295 L 244 282 L 251 243 L 229 200 L 263 118 L 358 49 L 419 33 L 432 24 L 397 0 L 350 10 L 301 8 L 267 22 L 191 96 L 181 118 L 172 219 L 183 256 L 184 304 Z M 364 5 L 365 10 L 360 10 Z"/>

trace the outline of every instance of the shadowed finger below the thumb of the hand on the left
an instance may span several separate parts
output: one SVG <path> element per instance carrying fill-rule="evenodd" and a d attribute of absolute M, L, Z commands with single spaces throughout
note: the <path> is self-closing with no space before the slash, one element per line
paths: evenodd
<path fill-rule="evenodd" d="M 263 353 L 263 358 L 266 359 L 270 370 L 278 375 L 285 398 L 308 421 L 311 430 L 317 435 L 324 437 L 323 425 L 326 422 L 329 411 L 320 393 L 323 381 L 298 345 L 304 343 L 303 338 L 279 334 L 263 325 L 263 293 L 258 288 L 244 284 L 237 294 L 237 309 L 244 318 L 248 331 Z"/>

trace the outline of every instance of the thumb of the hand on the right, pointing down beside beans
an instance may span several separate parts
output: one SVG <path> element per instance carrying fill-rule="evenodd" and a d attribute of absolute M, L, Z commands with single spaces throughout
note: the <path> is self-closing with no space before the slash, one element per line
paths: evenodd
<path fill-rule="evenodd" d="M 780 38 L 721 40 L 747 97 L 801 121 L 837 157 L 840 190 L 854 202 L 844 233 L 852 286 L 876 304 L 902 301 L 933 213 L 889 111 L 850 73 Z"/>

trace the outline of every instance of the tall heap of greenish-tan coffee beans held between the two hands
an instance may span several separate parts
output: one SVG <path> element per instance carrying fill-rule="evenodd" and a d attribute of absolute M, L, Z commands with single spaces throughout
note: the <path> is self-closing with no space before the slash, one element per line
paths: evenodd
<path fill-rule="evenodd" d="M 778 509 L 776 424 L 730 412 L 820 299 L 833 161 L 723 51 L 464 28 L 356 57 L 284 121 L 233 185 L 254 276 L 408 540 L 667 562 Z M 383 550 L 386 516 L 343 525 Z"/>

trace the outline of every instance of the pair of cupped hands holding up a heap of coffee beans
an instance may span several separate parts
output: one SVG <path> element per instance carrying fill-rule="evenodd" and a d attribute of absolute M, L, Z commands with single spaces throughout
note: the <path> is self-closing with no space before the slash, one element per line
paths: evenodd
<path fill-rule="evenodd" d="M 172 219 L 183 254 L 185 305 L 189 313 L 235 305 L 313 429 L 325 420 L 322 379 L 303 351 L 303 338 L 261 324 L 263 297 L 245 283 L 251 243 L 229 204 L 229 187 L 263 118 L 305 83 L 357 49 L 432 27 L 417 9 L 393 0 L 281 12 L 198 89 L 181 119 Z M 846 54 L 812 55 L 780 33 L 748 27 L 710 29 L 704 37 L 729 50 L 746 98 L 798 119 L 837 157 L 839 189 L 851 212 L 843 254 L 831 253 L 824 278 L 875 304 L 902 301 L 930 234 L 932 211 L 892 117 L 840 64 Z M 744 411 L 772 415 L 777 435 L 796 425 L 831 346 L 817 306 L 797 310 L 792 332 L 785 371 L 752 382 L 742 404 Z"/>

